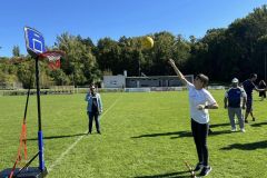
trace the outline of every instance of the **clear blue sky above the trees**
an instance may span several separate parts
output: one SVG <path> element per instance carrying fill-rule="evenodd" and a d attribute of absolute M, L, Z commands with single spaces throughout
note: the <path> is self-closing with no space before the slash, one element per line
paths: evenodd
<path fill-rule="evenodd" d="M 226 28 L 267 0 L 9 0 L 0 8 L 0 57 L 13 46 L 26 55 L 23 27 L 39 30 L 47 46 L 63 32 L 91 38 L 136 37 L 169 31 L 185 38 Z"/>

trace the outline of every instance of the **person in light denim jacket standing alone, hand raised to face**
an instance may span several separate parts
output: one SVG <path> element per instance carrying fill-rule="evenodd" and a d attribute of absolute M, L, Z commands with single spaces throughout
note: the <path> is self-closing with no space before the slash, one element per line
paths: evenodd
<path fill-rule="evenodd" d="M 88 135 L 92 131 L 92 121 L 96 121 L 97 132 L 100 135 L 100 115 L 102 112 L 102 101 L 100 95 L 96 91 L 96 87 L 92 85 L 89 92 L 86 95 L 87 115 L 89 118 Z"/>

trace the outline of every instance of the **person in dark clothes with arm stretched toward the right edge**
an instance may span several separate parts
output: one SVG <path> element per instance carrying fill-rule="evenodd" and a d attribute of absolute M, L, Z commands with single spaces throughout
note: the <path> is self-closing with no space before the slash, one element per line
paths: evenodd
<path fill-rule="evenodd" d="M 256 91 L 266 91 L 266 89 L 258 89 L 255 86 L 255 81 L 257 80 L 257 75 L 256 73 L 251 73 L 249 79 L 245 80 L 243 82 L 243 87 L 247 93 L 247 105 L 246 105 L 246 113 L 245 113 L 245 122 L 248 123 L 248 115 L 250 113 L 250 116 L 253 117 L 253 121 L 255 121 L 255 117 L 253 113 L 253 90 Z"/>

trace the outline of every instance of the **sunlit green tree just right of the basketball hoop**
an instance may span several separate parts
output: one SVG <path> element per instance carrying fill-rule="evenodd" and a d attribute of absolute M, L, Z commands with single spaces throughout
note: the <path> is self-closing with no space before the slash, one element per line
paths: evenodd
<path fill-rule="evenodd" d="M 66 52 L 61 68 L 69 78 L 72 78 L 75 86 L 98 81 L 100 78 L 91 44 L 85 41 L 87 40 L 69 33 L 57 37 L 56 47 Z"/>

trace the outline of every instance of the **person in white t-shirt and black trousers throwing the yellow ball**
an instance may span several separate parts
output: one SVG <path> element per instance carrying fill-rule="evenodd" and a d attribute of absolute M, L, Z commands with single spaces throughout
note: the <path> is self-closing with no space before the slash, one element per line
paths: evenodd
<path fill-rule="evenodd" d="M 208 165 L 207 146 L 207 137 L 209 130 L 208 109 L 218 109 L 218 103 L 210 95 L 210 92 L 205 89 L 209 80 L 207 76 L 200 73 L 195 78 L 194 83 L 190 83 L 179 71 L 172 59 L 169 59 L 169 63 L 174 68 L 181 82 L 187 86 L 189 92 L 191 131 L 199 160 L 195 168 L 195 171 L 201 169 L 199 175 L 207 176 L 211 170 L 211 167 Z"/>

